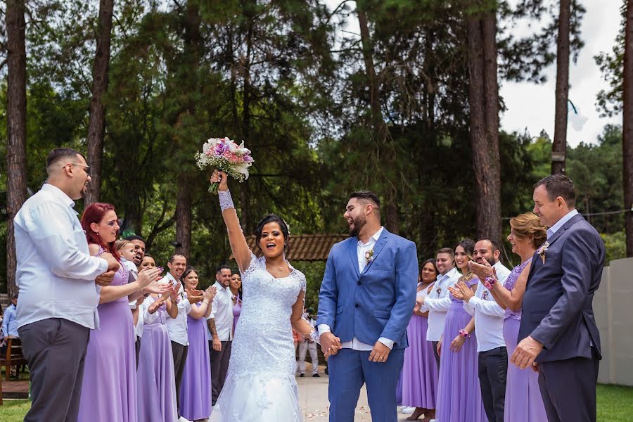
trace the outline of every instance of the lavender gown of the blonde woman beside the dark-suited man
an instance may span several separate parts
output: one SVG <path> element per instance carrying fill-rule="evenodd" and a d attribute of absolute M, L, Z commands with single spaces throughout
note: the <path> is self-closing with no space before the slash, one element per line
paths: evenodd
<path fill-rule="evenodd" d="M 514 267 L 504 286 L 512 290 L 526 265 L 532 258 Z M 513 312 L 506 309 L 504 320 L 504 340 L 508 348 L 508 359 L 512 356 L 517 345 L 518 329 L 521 323 L 521 311 Z M 506 379 L 506 404 L 504 419 L 512 422 L 546 421 L 545 407 L 541 391 L 539 390 L 539 374 L 532 369 L 519 369 L 508 362 Z"/>

